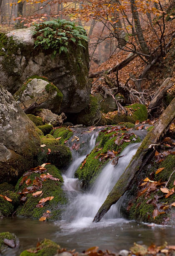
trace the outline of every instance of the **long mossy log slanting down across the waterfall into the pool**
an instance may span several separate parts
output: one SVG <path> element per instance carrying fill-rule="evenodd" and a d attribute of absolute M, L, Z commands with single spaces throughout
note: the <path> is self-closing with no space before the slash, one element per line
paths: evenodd
<path fill-rule="evenodd" d="M 163 114 L 158 119 L 155 127 L 147 134 L 141 146 L 138 148 L 130 164 L 125 169 L 125 172 L 118 179 L 117 183 L 107 196 L 105 202 L 98 210 L 93 222 L 99 222 L 110 207 L 115 204 L 119 198 L 128 190 L 132 184 L 135 175 L 138 175 L 143 166 L 149 161 L 155 150 L 155 144 L 159 142 L 160 137 L 166 133 L 168 126 L 175 118 L 175 98 L 166 108 Z"/>

